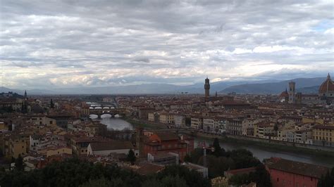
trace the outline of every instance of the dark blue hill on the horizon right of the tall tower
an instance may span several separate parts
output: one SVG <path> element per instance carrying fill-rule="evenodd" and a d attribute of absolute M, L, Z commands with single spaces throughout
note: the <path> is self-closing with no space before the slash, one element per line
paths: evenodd
<path fill-rule="evenodd" d="M 280 93 L 284 91 L 289 86 L 289 82 L 296 82 L 296 89 L 302 93 L 317 93 L 316 87 L 320 86 L 326 77 L 316 77 L 316 78 L 299 78 L 291 79 L 281 82 L 268 82 L 261 84 L 240 84 L 235 86 L 230 86 L 226 89 L 220 91 L 220 93 Z"/>

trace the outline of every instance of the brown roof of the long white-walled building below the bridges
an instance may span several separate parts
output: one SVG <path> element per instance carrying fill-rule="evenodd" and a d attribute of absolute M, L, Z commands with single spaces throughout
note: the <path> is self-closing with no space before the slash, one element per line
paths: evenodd
<path fill-rule="evenodd" d="M 108 142 L 90 143 L 90 146 L 93 151 L 133 148 L 133 145 L 130 141 L 108 141 Z"/>

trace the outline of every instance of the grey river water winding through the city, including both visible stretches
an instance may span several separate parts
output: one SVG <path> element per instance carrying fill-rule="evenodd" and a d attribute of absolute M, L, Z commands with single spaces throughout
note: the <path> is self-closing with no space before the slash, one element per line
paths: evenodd
<path fill-rule="evenodd" d="M 125 128 L 133 129 L 132 124 L 126 122 L 125 120 L 121 120 L 120 118 L 111 118 L 109 115 L 102 115 L 101 119 L 97 119 L 97 115 L 90 116 L 92 120 L 99 120 L 102 124 L 106 124 L 108 129 L 117 129 L 122 130 Z M 206 146 L 212 144 L 212 141 L 204 138 L 195 138 L 194 139 L 194 146 L 197 148 L 199 143 L 202 142 L 206 143 Z M 220 142 L 220 145 L 225 150 L 233 150 L 237 148 L 245 148 L 253 153 L 253 155 L 259 160 L 264 160 L 265 158 L 269 157 L 282 157 L 287 160 L 295 160 L 299 162 L 307 162 L 309 164 L 314 165 L 323 165 L 326 167 L 334 167 L 334 157 L 318 157 L 316 155 L 307 155 L 304 153 L 296 154 L 290 152 L 282 152 L 282 151 L 275 151 L 275 150 L 268 150 L 266 148 L 262 148 L 260 146 L 245 146 L 242 143 L 224 143 Z"/>

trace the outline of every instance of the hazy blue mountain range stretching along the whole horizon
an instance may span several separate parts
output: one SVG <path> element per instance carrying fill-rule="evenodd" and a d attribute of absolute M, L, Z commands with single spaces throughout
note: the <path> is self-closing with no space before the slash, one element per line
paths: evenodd
<path fill-rule="evenodd" d="M 326 77 L 299 78 L 292 80 L 264 80 L 256 82 L 214 82 L 211 83 L 211 95 L 219 93 L 280 93 L 288 88 L 290 81 L 296 82 L 296 89 L 302 93 L 317 93 L 318 86 Z M 23 94 L 24 90 L 0 87 L 0 92 L 13 91 Z M 138 84 L 128 86 L 75 87 L 61 89 L 32 89 L 28 95 L 42 94 L 144 94 L 144 93 L 204 93 L 204 83 L 178 86 L 173 84 Z"/>

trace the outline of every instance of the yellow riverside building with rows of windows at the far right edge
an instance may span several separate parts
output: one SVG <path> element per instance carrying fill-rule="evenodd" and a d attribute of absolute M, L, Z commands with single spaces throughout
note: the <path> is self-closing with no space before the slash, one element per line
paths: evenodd
<path fill-rule="evenodd" d="M 316 125 L 312 129 L 312 136 L 314 145 L 334 147 L 334 126 Z"/>

